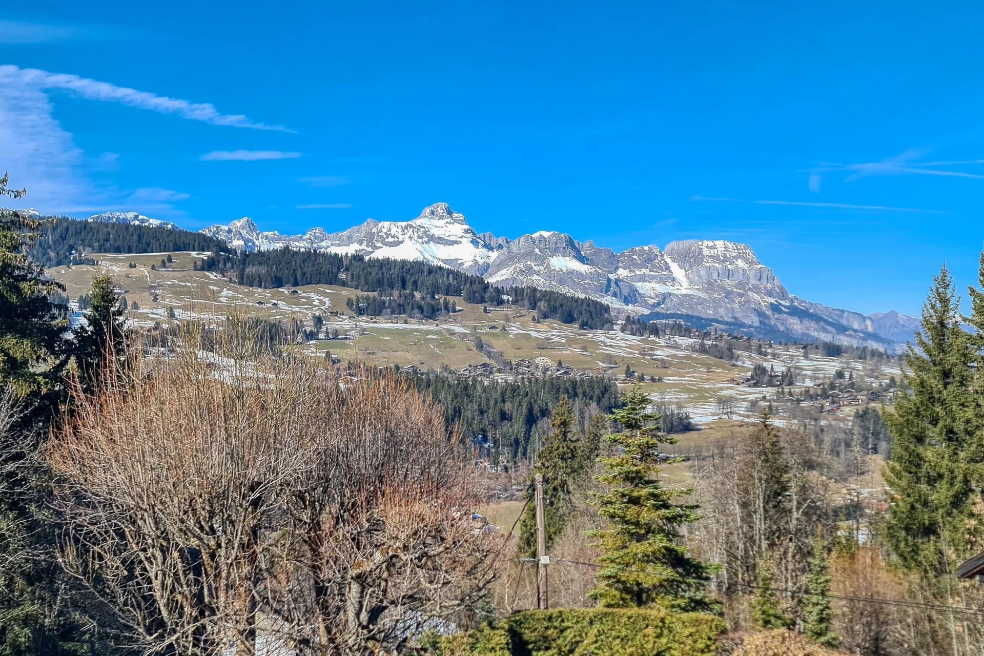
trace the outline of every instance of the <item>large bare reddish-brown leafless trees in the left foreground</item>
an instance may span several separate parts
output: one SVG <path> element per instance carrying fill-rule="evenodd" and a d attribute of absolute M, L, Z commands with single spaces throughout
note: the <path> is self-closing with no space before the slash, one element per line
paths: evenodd
<path fill-rule="evenodd" d="M 144 653 L 390 652 L 461 613 L 489 545 L 439 409 L 234 342 L 76 395 L 49 453 L 67 567 Z"/>

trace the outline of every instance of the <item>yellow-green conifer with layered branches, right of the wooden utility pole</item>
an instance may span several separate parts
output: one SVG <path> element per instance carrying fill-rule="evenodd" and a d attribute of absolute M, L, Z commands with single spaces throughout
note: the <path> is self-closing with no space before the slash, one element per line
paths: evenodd
<path fill-rule="evenodd" d="M 648 411 L 649 404 L 639 386 L 622 397 L 622 407 L 612 414 L 622 432 L 607 436 L 620 452 L 598 458 L 605 473 L 597 480 L 610 490 L 594 503 L 610 525 L 588 532 L 603 552 L 598 585 L 588 596 L 607 608 L 717 612 L 706 589 L 713 567 L 680 544 L 680 529 L 700 515 L 696 506 L 673 500 L 692 491 L 659 481 L 658 447 L 676 441 L 657 432 L 659 416 Z"/>

